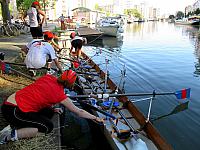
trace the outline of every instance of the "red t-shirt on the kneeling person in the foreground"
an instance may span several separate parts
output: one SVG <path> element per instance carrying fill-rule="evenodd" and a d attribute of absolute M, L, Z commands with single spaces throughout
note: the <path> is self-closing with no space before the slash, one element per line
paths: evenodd
<path fill-rule="evenodd" d="M 17 91 L 15 96 L 17 105 L 23 112 L 38 112 L 66 98 L 63 86 L 51 75 L 39 78 L 35 83 Z"/>

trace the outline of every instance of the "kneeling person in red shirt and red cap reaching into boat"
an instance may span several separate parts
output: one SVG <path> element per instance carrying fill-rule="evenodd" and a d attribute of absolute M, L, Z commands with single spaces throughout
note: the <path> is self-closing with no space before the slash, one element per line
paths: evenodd
<path fill-rule="evenodd" d="M 4 118 L 18 129 L 5 129 L 0 132 L 0 144 L 10 140 L 35 137 L 38 132 L 50 133 L 53 130 L 52 106 L 61 103 L 79 117 L 103 122 L 83 109 L 76 107 L 65 95 L 64 88 L 70 89 L 76 81 L 76 73 L 65 71 L 59 78 L 45 75 L 33 84 L 12 94 L 1 107 Z"/>

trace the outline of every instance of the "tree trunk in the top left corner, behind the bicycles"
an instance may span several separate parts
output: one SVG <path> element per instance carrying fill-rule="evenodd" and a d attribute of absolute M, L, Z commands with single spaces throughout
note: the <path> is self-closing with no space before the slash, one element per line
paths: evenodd
<path fill-rule="evenodd" d="M 6 23 L 7 20 L 10 22 L 9 0 L 1 0 L 0 2 L 3 22 Z"/>

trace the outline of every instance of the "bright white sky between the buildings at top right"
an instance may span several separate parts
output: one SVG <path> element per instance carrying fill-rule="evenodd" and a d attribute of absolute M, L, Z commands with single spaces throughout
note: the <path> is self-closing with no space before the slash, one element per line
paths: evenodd
<path fill-rule="evenodd" d="M 142 1 L 142 0 L 137 0 Z M 175 13 L 176 11 L 184 11 L 188 5 L 192 5 L 197 0 L 146 0 L 146 3 L 154 7 L 161 8 L 166 13 Z"/>

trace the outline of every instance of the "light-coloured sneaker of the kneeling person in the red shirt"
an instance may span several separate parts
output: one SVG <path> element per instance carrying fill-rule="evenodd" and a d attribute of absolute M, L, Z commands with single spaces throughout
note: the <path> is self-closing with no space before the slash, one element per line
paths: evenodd
<path fill-rule="evenodd" d="M 10 125 L 8 125 L 0 131 L 0 144 L 6 144 L 8 142 L 8 137 L 11 136 L 11 130 Z"/>

